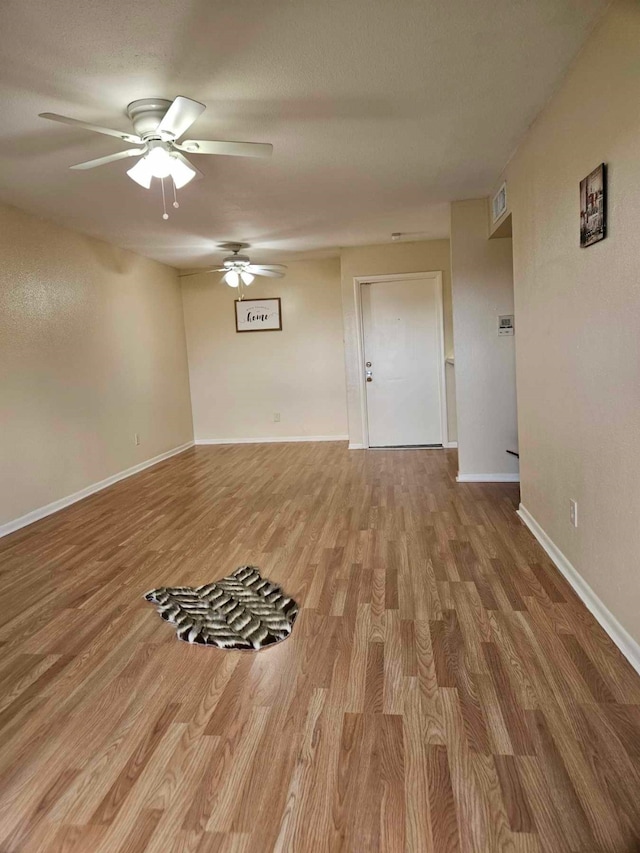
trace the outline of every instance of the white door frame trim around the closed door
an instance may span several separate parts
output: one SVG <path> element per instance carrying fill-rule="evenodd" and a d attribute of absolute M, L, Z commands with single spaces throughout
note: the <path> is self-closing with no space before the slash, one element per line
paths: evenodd
<path fill-rule="evenodd" d="M 394 273 L 393 275 L 358 275 L 353 279 L 353 291 L 356 303 L 356 336 L 358 349 L 358 383 L 360 392 L 360 416 L 362 418 L 362 443 L 365 448 L 369 447 L 369 414 L 367 411 L 367 390 L 364 375 L 364 323 L 362 319 L 361 286 L 363 284 L 375 284 L 378 281 L 407 281 L 420 278 L 432 279 L 436 282 L 436 311 L 438 322 L 436 328 L 437 349 L 439 354 L 438 365 L 438 393 L 440 397 L 440 430 L 442 433 L 442 447 L 449 446 L 449 426 L 447 418 L 447 386 L 444 372 L 444 309 L 442 297 L 442 271 L 431 270 L 429 272 Z"/>

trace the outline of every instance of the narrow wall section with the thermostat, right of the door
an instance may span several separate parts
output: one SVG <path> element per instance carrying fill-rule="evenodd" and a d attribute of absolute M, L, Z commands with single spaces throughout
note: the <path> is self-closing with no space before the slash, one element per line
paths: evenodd
<path fill-rule="evenodd" d="M 461 477 L 518 472 L 506 452 L 518 446 L 514 338 L 497 334 L 498 315 L 513 314 L 511 239 L 489 240 L 487 208 L 487 199 L 451 205 Z"/>

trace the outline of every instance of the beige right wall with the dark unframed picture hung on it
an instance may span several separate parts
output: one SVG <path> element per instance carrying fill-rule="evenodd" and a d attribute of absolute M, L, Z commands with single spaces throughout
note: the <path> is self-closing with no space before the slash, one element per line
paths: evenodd
<path fill-rule="evenodd" d="M 639 69 L 640 5 L 615 2 L 506 173 L 522 502 L 638 641 Z M 609 236 L 580 249 L 578 187 L 602 161 Z"/>

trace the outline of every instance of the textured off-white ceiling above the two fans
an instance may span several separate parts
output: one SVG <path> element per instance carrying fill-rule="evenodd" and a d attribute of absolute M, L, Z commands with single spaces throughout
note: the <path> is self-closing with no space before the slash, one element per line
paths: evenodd
<path fill-rule="evenodd" d="M 486 194 L 604 0 L 3 0 L 0 198 L 176 266 L 248 241 L 255 259 L 443 237 L 448 202 Z M 271 142 L 205 174 L 161 219 L 126 162 L 68 166 L 130 130 L 129 101 L 207 105 L 196 138 Z M 154 182 L 157 183 L 157 182 Z"/>

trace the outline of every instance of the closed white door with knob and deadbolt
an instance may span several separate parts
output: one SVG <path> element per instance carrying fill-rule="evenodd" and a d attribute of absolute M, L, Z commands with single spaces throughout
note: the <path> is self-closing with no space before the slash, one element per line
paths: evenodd
<path fill-rule="evenodd" d="M 360 285 L 369 447 L 442 444 L 441 277 Z"/>

